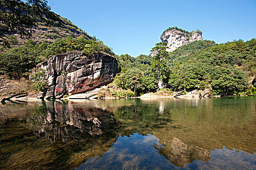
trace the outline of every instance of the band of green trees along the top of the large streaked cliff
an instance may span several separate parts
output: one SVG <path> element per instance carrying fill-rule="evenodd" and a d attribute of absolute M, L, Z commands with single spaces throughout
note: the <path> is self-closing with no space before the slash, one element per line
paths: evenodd
<path fill-rule="evenodd" d="M 0 74 L 19 78 L 38 63 L 47 61 L 53 55 L 69 51 L 83 51 L 86 55 L 92 55 L 96 51 L 114 54 L 102 41 L 88 40 L 83 36 L 67 36 L 57 39 L 52 44 L 40 45 L 28 40 L 25 46 L 14 47 L 0 53 Z"/>

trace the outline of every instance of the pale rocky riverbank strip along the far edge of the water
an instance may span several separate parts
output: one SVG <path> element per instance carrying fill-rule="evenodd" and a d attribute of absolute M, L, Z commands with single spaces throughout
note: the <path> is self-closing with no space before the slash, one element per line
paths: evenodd
<path fill-rule="evenodd" d="M 29 80 L 7 80 L 1 79 L 0 102 L 32 102 L 43 100 L 42 92 L 39 92 L 35 85 Z M 97 100 L 97 99 L 164 99 L 164 98 L 202 98 L 202 97 L 221 97 L 212 95 L 210 89 L 193 90 L 191 92 L 173 92 L 169 89 L 160 89 L 157 92 L 146 93 L 141 96 L 134 96 L 131 90 L 122 90 L 109 86 L 95 88 L 85 93 L 64 96 L 60 100 Z"/>

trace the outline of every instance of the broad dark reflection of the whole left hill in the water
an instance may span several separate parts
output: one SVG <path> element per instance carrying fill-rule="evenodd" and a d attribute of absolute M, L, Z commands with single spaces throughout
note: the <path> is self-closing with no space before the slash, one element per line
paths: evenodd
<path fill-rule="evenodd" d="M 86 159 L 102 156 L 117 141 L 118 123 L 101 108 L 72 102 L 42 102 L 28 108 L 29 114 L 2 114 L 2 170 L 74 169 Z"/>

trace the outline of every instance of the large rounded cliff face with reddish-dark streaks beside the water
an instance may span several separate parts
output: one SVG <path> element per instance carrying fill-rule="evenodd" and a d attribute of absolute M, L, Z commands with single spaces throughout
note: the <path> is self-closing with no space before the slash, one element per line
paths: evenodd
<path fill-rule="evenodd" d="M 107 53 L 98 52 L 83 56 L 81 52 L 68 52 L 52 56 L 32 72 L 44 70 L 48 82 L 47 98 L 62 98 L 64 94 L 90 91 L 110 83 L 116 76 L 117 59 Z"/>

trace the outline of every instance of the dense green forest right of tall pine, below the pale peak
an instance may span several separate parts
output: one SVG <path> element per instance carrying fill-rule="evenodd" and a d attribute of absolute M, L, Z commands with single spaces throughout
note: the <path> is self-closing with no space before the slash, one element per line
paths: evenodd
<path fill-rule="evenodd" d="M 244 91 L 256 73 L 256 40 L 209 45 L 203 50 L 188 53 L 184 46 L 170 53 L 173 58 L 170 87 L 174 90 L 211 88 L 216 95 L 234 95 Z"/>

